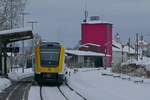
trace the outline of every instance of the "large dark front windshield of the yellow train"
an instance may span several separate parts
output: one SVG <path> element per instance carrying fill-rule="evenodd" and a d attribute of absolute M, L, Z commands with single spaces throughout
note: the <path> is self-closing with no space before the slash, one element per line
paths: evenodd
<path fill-rule="evenodd" d="M 56 67 L 59 64 L 60 48 L 41 48 L 40 62 L 43 67 Z"/>

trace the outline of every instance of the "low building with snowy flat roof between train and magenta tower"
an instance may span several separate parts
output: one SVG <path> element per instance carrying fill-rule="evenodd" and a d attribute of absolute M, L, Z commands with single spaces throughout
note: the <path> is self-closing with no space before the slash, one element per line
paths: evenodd
<path fill-rule="evenodd" d="M 65 50 L 67 55 L 66 63 L 72 67 L 103 67 L 104 57 L 109 56 L 103 53 L 81 50 Z"/>

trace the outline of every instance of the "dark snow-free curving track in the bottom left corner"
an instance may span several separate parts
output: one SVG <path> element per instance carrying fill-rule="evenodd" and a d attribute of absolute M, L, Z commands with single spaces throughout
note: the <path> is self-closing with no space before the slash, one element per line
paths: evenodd
<path fill-rule="evenodd" d="M 27 100 L 31 85 L 32 77 L 14 82 L 10 87 L 0 93 L 0 100 Z"/>

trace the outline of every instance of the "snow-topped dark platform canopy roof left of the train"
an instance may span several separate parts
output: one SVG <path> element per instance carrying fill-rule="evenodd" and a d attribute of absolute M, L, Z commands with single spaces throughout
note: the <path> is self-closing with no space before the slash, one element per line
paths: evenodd
<path fill-rule="evenodd" d="M 31 28 L 17 28 L 11 30 L 0 31 L 0 40 L 2 42 L 15 42 L 33 38 Z"/>

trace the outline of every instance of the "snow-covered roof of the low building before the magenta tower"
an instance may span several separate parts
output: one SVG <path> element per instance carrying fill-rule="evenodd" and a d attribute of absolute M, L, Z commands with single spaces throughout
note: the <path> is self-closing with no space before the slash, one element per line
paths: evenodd
<path fill-rule="evenodd" d="M 73 54 L 73 55 L 78 55 L 78 56 L 105 56 L 103 53 L 96 53 L 96 52 L 91 52 L 91 51 L 81 51 L 81 50 L 65 50 L 66 53 Z M 110 55 L 106 55 L 110 56 Z"/>

